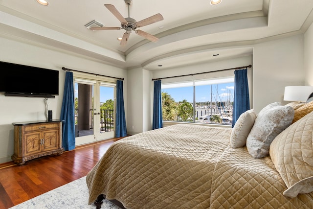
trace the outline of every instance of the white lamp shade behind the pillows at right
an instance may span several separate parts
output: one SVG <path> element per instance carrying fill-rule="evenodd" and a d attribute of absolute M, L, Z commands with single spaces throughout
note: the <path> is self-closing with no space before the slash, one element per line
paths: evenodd
<path fill-rule="evenodd" d="M 311 93 L 313 86 L 286 86 L 284 100 L 305 102 Z"/>

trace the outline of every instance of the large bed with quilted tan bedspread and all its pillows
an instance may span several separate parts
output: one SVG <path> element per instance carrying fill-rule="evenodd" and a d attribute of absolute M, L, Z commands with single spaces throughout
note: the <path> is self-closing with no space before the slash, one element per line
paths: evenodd
<path fill-rule="evenodd" d="M 120 139 L 87 175 L 89 204 L 312 209 L 313 103 L 303 107 L 276 102 L 242 114 L 234 128 L 178 124 Z M 297 110 L 303 116 L 293 121 Z"/>

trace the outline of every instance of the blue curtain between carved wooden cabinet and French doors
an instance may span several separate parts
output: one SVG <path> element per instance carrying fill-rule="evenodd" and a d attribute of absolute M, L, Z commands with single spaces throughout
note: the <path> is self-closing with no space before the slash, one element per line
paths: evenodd
<path fill-rule="evenodd" d="M 62 141 L 64 150 L 75 149 L 75 120 L 74 120 L 74 87 L 73 87 L 73 73 L 66 72 L 63 102 L 61 109 L 62 126 Z"/>

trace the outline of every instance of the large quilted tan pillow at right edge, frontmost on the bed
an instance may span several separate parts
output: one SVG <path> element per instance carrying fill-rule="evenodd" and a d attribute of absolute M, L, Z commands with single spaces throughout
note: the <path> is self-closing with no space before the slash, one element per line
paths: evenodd
<path fill-rule="evenodd" d="M 280 133 L 271 143 L 269 155 L 288 187 L 285 196 L 313 191 L 313 112 Z"/>

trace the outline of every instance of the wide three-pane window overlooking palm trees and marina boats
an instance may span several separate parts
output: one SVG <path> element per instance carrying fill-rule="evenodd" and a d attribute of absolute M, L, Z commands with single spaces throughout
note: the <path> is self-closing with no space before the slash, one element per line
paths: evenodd
<path fill-rule="evenodd" d="M 234 76 L 162 83 L 164 121 L 232 124 Z"/>

